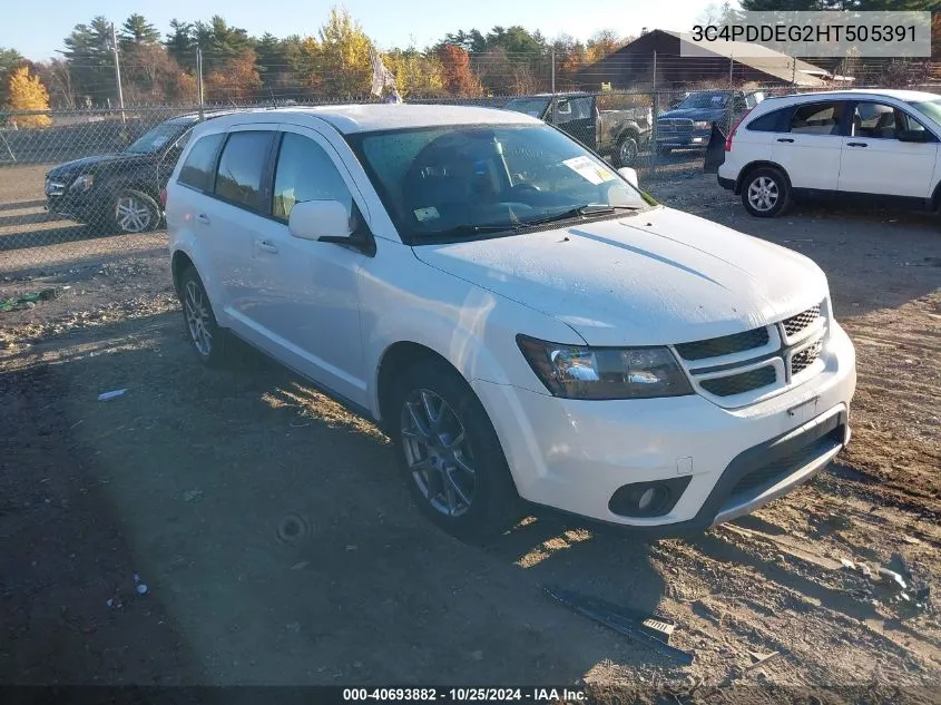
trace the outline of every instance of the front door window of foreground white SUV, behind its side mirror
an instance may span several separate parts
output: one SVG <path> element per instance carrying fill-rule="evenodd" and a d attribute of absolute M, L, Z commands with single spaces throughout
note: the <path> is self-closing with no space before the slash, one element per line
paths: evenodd
<path fill-rule="evenodd" d="M 339 200 L 353 216 L 353 196 L 336 165 L 317 143 L 285 133 L 274 175 L 272 215 L 286 221 L 295 203 Z"/>

